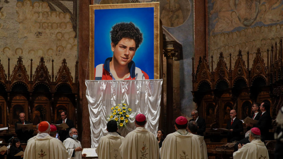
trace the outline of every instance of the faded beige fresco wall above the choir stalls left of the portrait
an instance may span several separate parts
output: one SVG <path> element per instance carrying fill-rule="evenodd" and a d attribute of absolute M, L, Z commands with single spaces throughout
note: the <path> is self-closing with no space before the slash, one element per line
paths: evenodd
<path fill-rule="evenodd" d="M 54 71 L 67 59 L 70 72 L 75 75 L 77 59 L 76 11 L 75 1 L 0 1 L 0 58 L 4 69 L 17 63 L 17 57 L 23 57 L 23 64 L 33 70 L 45 58 L 49 70 L 54 59 Z M 62 11 L 64 10 L 64 11 Z"/>

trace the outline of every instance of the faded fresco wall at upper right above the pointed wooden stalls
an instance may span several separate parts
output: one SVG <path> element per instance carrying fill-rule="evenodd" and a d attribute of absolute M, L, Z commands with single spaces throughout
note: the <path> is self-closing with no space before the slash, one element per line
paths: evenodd
<path fill-rule="evenodd" d="M 208 0 L 208 56 L 218 59 L 222 51 L 224 60 L 229 62 L 231 53 L 233 66 L 237 58 L 235 55 L 241 49 L 245 61 L 249 51 L 251 66 L 259 47 L 266 61 L 266 50 L 270 50 L 271 44 L 279 42 L 283 36 L 282 8 L 282 0 Z M 213 60 L 214 66 L 216 62 Z"/>

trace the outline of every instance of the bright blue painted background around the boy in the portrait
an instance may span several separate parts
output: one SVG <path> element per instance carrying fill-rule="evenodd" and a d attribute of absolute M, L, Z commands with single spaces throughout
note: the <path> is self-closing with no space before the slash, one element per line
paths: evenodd
<path fill-rule="evenodd" d="M 139 14 L 137 14 L 139 13 Z M 143 34 L 143 41 L 136 50 L 133 61 L 136 67 L 154 79 L 154 7 L 96 9 L 94 11 L 94 65 L 113 57 L 110 31 L 119 22 L 132 22 Z"/>

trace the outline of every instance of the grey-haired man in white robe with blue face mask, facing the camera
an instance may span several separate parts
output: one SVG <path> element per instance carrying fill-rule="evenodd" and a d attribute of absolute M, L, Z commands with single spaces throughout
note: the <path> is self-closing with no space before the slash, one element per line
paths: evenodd
<path fill-rule="evenodd" d="M 83 148 L 80 141 L 77 140 L 78 131 L 75 128 L 69 130 L 69 136 L 63 141 L 63 144 L 68 151 L 68 159 L 82 159 L 86 154 L 82 154 Z"/>

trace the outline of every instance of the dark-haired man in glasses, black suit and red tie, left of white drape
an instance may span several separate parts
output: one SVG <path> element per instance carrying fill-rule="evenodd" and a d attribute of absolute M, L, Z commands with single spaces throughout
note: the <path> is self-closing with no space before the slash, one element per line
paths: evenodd
<path fill-rule="evenodd" d="M 67 119 L 67 112 L 65 110 L 60 112 L 60 115 L 62 117 L 62 120 L 58 120 L 56 121 L 56 124 L 62 124 L 62 123 L 66 123 L 69 127 L 65 130 L 59 130 L 59 137 L 60 140 L 63 142 L 66 139 L 66 136 L 69 136 L 69 130 L 71 128 L 75 128 L 74 126 L 74 122 L 70 119 Z"/>

